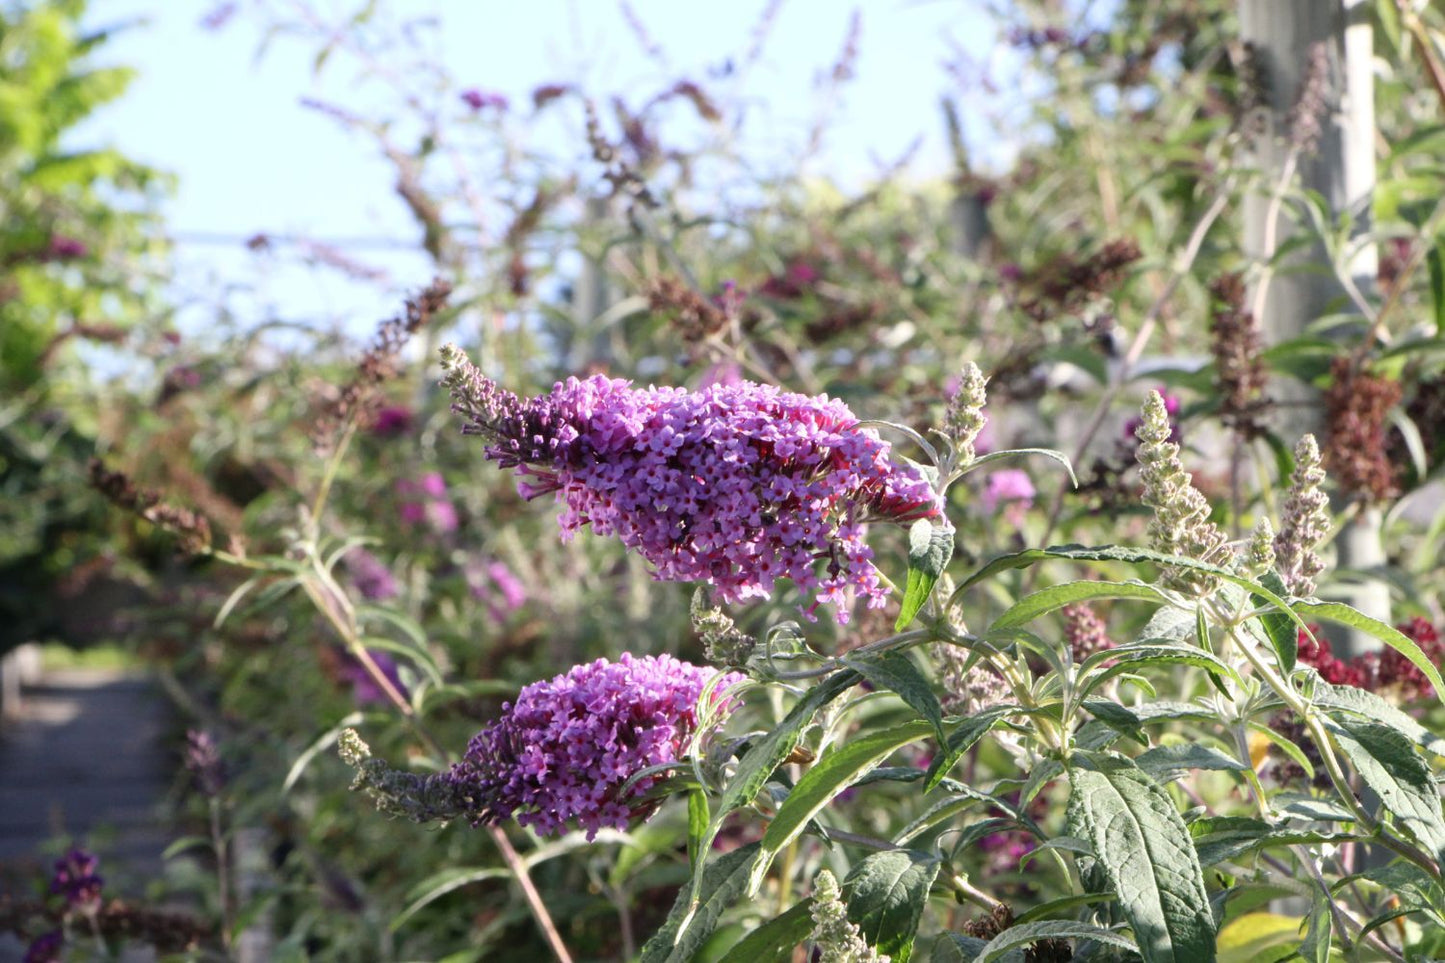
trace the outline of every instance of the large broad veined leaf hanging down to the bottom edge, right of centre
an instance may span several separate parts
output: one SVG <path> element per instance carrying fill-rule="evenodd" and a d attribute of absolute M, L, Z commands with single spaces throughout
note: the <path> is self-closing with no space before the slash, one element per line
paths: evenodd
<path fill-rule="evenodd" d="M 1118 894 L 1146 963 L 1211 963 L 1209 894 L 1169 795 L 1118 756 L 1077 752 L 1068 772 L 1069 811 Z"/>

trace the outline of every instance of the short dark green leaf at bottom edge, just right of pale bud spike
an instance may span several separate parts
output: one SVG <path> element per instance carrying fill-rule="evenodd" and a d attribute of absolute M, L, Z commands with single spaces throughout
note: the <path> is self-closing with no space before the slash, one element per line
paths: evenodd
<path fill-rule="evenodd" d="M 844 881 L 848 920 L 893 963 L 907 963 L 913 954 L 913 937 L 939 866 L 932 853 L 894 849 L 863 859 Z"/>

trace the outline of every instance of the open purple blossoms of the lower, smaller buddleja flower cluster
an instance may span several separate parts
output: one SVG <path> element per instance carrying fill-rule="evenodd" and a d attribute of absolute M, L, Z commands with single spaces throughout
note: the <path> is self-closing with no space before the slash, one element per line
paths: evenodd
<path fill-rule="evenodd" d="M 682 755 L 714 672 L 670 655 L 623 654 L 533 682 L 473 737 L 449 778 L 471 798 L 477 823 L 516 817 L 542 834 L 575 823 L 588 839 L 604 827 L 626 829 L 650 811 L 639 797 L 656 778 L 639 779 L 626 795 L 623 782 Z M 730 709 L 725 690 L 741 678 L 720 680 L 712 697 L 720 711 Z"/>

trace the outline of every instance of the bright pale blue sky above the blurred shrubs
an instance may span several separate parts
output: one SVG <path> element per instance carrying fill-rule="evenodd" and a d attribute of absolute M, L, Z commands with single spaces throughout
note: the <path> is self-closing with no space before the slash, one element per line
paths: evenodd
<path fill-rule="evenodd" d="M 526 104 L 542 82 L 581 81 L 594 94 L 653 91 L 663 80 L 707 77 L 747 48 L 766 0 L 678 3 L 634 0 L 639 19 L 668 64 L 650 59 L 613 0 L 392 0 L 409 16 L 442 25 L 439 56 L 461 87 L 496 90 Z M 251 0 L 254 3 L 254 0 Z M 368 328 L 379 311 L 374 289 L 340 276 L 279 269 L 238 243 L 257 233 L 318 239 L 412 239 L 415 227 L 392 192 L 390 168 L 371 146 L 302 106 L 305 97 L 348 103 L 355 77 L 332 61 L 319 78 L 315 45 L 280 39 L 257 56 L 259 17 L 241 12 L 223 29 L 201 26 L 218 4 L 194 0 L 92 0 L 92 26 L 131 19 L 104 49 L 140 77 L 126 97 L 81 133 L 178 176 L 166 204 L 178 239 L 182 299 L 217 298 L 230 285 L 254 285 L 286 317 L 311 322 L 357 317 Z M 288 9 L 289 0 L 269 0 Z M 312 0 L 322 12 L 351 12 L 360 0 Z M 949 168 L 938 98 L 958 93 L 942 68 L 958 46 L 987 58 L 993 25 L 970 0 L 873 0 L 860 3 L 857 77 L 842 88 L 818 171 L 864 182 L 881 162 L 899 158 L 916 137 L 910 172 L 919 179 Z M 837 58 L 853 6 L 835 0 L 780 4 L 759 67 L 750 75 L 747 142 L 760 163 L 795 150 L 818 107 L 814 78 Z M 975 130 L 983 130 L 978 124 Z M 88 146 L 90 146 L 88 145 Z M 975 145 L 978 146 L 978 145 Z M 575 145 L 561 142 L 559 150 Z M 428 276 L 420 257 L 374 254 L 396 286 Z M 384 314 L 381 311 L 380 314 Z M 347 327 L 351 327 L 350 324 Z"/>

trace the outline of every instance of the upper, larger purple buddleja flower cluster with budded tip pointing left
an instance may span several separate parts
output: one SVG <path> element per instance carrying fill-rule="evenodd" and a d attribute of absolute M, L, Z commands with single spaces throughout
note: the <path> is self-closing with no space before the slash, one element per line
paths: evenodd
<path fill-rule="evenodd" d="M 809 615 L 840 603 L 847 622 L 850 588 L 873 607 L 887 599 L 863 525 L 941 510 L 932 487 L 825 395 L 750 382 L 634 389 L 594 376 L 523 401 L 452 346 L 442 366 L 464 432 L 517 470 L 525 496 L 556 493 L 565 536 L 585 525 L 617 535 L 659 580 L 708 583 L 721 602 L 767 597 L 788 578 L 815 596 Z"/>

